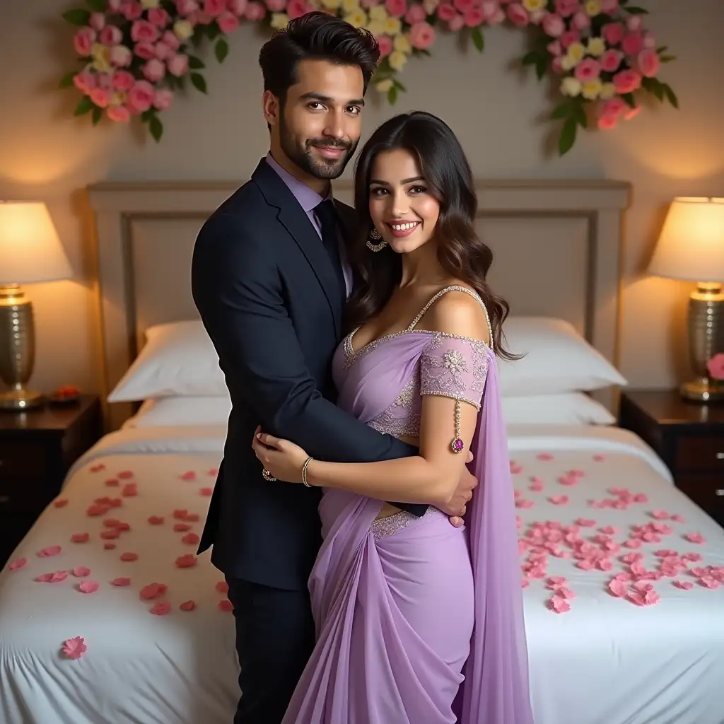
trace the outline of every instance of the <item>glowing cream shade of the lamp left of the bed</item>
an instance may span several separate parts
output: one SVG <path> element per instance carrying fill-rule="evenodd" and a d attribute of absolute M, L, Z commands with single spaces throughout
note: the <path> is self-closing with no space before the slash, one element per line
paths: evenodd
<path fill-rule="evenodd" d="M 72 269 L 46 205 L 0 201 L 0 285 L 70 277 Z"/>

